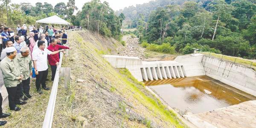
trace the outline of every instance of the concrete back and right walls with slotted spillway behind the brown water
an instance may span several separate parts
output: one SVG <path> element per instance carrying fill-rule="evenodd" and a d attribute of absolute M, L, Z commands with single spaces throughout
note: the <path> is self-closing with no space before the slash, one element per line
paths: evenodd
<path fill-rule="evenodd" d="M 203 54 L 177 56 L 174 61 L 141 61 L 138 57 L 102 55 L 113 67 L 127 68 L 138 81 L 207 75 L 256 96 L 256 72 Z"/>

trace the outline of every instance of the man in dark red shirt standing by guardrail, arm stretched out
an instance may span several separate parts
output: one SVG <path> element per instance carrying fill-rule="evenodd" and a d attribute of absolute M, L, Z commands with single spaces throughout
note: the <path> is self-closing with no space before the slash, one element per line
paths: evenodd
<path fill-rule="evenodd" d="M 51 38 L 50 39 L 50 45 L 47 47 L 47 49 L 51 52 L 58 51 L 61 49 L 70 49 L 69 47 L 66 46 L 61 46 L 57 44 L 57 39 L 56 38 Z M 58 66 L 58 62 L 60 61 L 59 54 L 54 54 L 54 55 L 48 55 L 48 61 L 49 65 L 51 66 L 52 70 L 52 81 L 54 80 L 55 77 L 55 72 Z"/>

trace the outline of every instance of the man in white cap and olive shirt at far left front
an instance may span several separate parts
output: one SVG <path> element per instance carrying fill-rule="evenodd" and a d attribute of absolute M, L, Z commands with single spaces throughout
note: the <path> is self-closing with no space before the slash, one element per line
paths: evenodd
<path fill-rule="evenodd" d="M 22 69 L 20 68 L 15 47 L 6 48 L 6 58 L 1 61 L 0 68 L 3 74 L 3 82 L 8 92 L 10 110 L 19 111 L 20 107 L 16 105 L 26 104 L 20 101 L 20 83 L 23 78 Z"/>

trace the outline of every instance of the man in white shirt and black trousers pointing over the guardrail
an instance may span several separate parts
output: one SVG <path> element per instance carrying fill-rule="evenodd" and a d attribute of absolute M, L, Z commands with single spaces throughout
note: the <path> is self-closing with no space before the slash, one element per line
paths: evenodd
<path fill-rule="evenodd" d="M 38 93 L 43 94 L 43 92 L 41 91 L 41 85 L 42 85 L 42 89 L 49 90 L 49 88 L 47 88 L 46 86 L 46 79 L 48 75 L 47 55 L 57 54 L 64 50 L 62 49 L 62 50 L 51 52 L 48 49 L 45 49 L 45 42 L 42 40 L 38 41 L 37 46 L 38 46 L 38 49 L 36 49 L 32 53 L 32 60 L 34 63 L 35 75 L 36 75 L 35 86 Z"/>

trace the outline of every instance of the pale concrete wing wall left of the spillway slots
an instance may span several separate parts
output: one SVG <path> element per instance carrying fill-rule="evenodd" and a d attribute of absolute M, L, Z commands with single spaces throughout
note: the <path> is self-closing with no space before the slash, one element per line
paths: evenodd
<path fill-rule="evenodd" d="M 124 68 L 129 65 L 141 65 L 141 59 L 133 56 L 102 55 L 113 67 Z"/>

